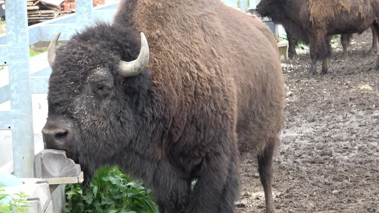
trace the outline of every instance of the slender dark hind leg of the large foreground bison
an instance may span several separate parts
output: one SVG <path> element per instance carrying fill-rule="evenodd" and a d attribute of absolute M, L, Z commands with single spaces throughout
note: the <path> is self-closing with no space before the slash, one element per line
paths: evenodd
<path fill-rule="evenodd" d="M 278 143 L 279 137 L 269 138 L 265 149 L 263 149 L 262 153 L 257 155 L 259 177 L 265 192 L 266 213 L 276 213 L 271 185 L 273 182 L 274 173 L 273 156 L 276 144 Z"/>

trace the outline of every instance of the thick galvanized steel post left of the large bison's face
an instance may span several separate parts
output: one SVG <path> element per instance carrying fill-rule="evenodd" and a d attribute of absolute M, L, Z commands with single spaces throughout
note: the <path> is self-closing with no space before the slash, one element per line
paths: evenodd
<path fill-rule="evenodd" d="M 25 0 L 5 1 L 14 175 L 34 177 L 29 33 Z"/>

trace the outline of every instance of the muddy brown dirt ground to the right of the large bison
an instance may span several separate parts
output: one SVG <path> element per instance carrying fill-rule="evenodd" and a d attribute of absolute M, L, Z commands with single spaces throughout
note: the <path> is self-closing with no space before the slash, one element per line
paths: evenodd
<path fill-rule="evenodd" d="M 367 53 L 371 41 L 371 30 L 354 34 L 342 60 L 338 40 L 327 75 L 308 77 L 308 53 L 282 64 L 287 100 L 274 160 L 278 213 L 379 213 L 379 71 L 371 70 L 377 58 Z M 244 207 L 236 212 L 264 212 L 255 157 L 241 170 Z"/>

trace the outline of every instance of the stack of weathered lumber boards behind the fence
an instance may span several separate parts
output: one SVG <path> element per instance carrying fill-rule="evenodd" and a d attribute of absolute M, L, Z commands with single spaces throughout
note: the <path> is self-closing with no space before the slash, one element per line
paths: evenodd
<path fill-rule="evenodd" d="M 26 0 L 29 24 L 55 19 L 61 12 L 63 0 Z"/>

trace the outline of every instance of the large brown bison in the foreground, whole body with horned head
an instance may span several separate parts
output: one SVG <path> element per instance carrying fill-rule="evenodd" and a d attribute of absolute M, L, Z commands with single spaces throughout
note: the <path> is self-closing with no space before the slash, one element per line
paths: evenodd
<path fill-rule="evenodd" d="M 251 152 L 275 212 L 284 82 L 263 22 L 219 0 L 129 0 L 112 24 L 56 47 L 59 35 L 48 50 L 46 149 L 65 150 L 87 180 L 119 165 L 162 213 L 234 212 L 240 159 Z"/>

